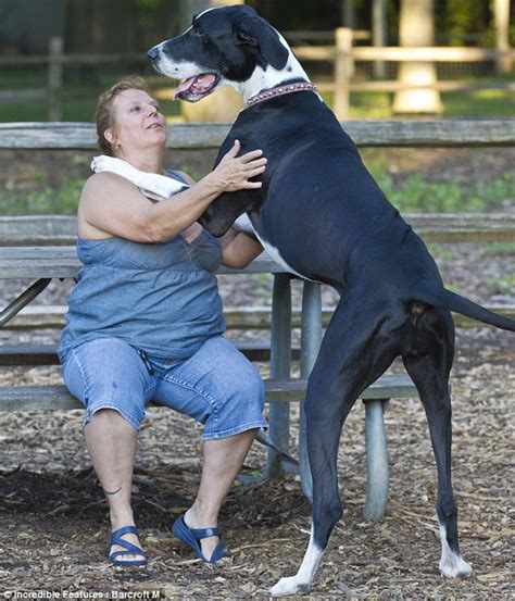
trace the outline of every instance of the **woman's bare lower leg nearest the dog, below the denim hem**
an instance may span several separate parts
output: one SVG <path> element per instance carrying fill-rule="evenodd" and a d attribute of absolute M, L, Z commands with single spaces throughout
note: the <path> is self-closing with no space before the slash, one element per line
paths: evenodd
<path fill-rule="evenodd" d="M 254 440 L 256 429 L 247 430 L 219 440 L 206 440 L 203 447 L 204 463 L 199 491 L 185 522 L 190 528 L 214 528 L 218 525 L 218 513 L 224 500 L 243 464 Z M 202 554 L 211 558 L 218 537 L 200 541 Z"/>

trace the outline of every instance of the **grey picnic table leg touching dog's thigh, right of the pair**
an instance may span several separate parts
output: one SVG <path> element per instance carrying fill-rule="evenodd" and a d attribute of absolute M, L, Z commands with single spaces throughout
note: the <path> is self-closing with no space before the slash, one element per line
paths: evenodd
<path fill-rule="evenodd" d="M 322 342 L 322 295 L 321 285 L 315 281 L 304 281 L 301 327 L 301 377 L 307 378 L 315 364 Z M 310 502 L 312 502 L 313 479 L 307 458 L 303 402 L 300 406 L 299 423 L 299 471 L 302 490 Z"/>

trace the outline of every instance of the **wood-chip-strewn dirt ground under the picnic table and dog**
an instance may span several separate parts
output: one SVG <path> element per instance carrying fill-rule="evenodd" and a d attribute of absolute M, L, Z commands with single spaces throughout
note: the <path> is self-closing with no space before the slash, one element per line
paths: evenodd
<path fill-rule="evenodd" d="M 460 159 L 448 151 L 447 159 L 438 153 L 427 168 L 437 174 L 445 162 L 469 175 L 481 164 L 488 167 L 485 156 L 482 161 Z M 503 165 L 494 162 L 502 171 L 510 159 Z M 400 155 L 392 154 L 392 164 L 401 173 L 416 168 Z M 510 270 L 513 273 L 513 255 L 453 245 L 438 255 L 438 263 L 444 279 L 461 292 L 487 303 L 515 302 L 513 290 L 488 285 Z M 0 303 L 23 284 L 3 285 Z M 40 302 L 65 302 L 70 288 L 70 283 L 52 283 Z M 225 304 L 266 304 L 271 279 L 224 276 L 221 292 Z M 299 304 L 298 283 L 293 297 Z M 324 303 L 335 300 L 334 292 L 324 289 Z M 241 333 L 230 335 L 242 337 Z M 55 336 L 51 331 L 4 331 L 0 343 L 7 339 L 47 342 Z M 443 580 L 438 571 L 436 471 L 417 399 L 390 402 L 386 415 L 388 514 L 380 522 L 363 519 L 364 410 L 356 403 L 340 445 L 343 518 L 305 599 L 515 598 L 513 341 L 510 333 L 492 328 L 457 330 L 452 374 L 453 474 L 461 548 L 474 567 L 473 576 Z M 260 368 L 266 376 L 267 365 Z M 397 363 L 392 367 L 400 370 Z M 2 385 L 60 383 L 58 367 L 2 368 L 0 376 Z M 297 408 L 291 418 L 291 453 L 296 455 Z M 42 598 L 41 591 L 58 591 L 61 598 L 89 599 L 95 593 L 118 599 L 265 599 L 279 577 L 297 571 L 309 540 L 310 505 L 296 476 L 259 478 L 266 455 L 260 445 L 253 446 L 244 466 L 254 481 L 236 483 L 221 515 L 221 528 L 235 553 L 231 565 L 200 564 L 169 534 L 171 521 L 188 506 L 198 486 L 201 430 L 188 418 L 158 408 L 149 410 L 143 423 L 134 479 L 135 515 L 150 562 L 146 568 L 110 567 L 106 503 L 85 451 L 80 424 L 79 411 L 0 415 L 0 593 L 4 597 L 16 598 L 11 591 L 17 591 L 17 598 L 23 598 L 20 591 L 32 591 Z"/>

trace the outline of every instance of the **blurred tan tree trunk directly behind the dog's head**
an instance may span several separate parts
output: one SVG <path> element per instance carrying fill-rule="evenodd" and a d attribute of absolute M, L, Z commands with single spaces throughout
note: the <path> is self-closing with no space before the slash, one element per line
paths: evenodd
<path fill-rule="evenodd" d="M 193 13 L 205 11 L 213 7 L 230 4 L 244 4 L 243 0 L 188 0 L 190 8 L 189 18 Z M 225 87 L 216 90 L 213 95 L 200 100 L 200 102 L 181 103 L 181 113 L 185 121 L 202 122 L 233 122 L 240 110 L 243 101 L 233 88 Z"/>

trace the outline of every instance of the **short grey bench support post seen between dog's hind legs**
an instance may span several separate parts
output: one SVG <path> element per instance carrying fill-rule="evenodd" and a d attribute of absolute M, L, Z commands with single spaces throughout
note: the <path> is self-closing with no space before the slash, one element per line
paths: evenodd
<path fill-rule="evenodd" d="M 366 500 L 365 519 L 381 519 L 388 503 L 388 448 L 384 413 L 388 399 L 365 402 Z"/>

